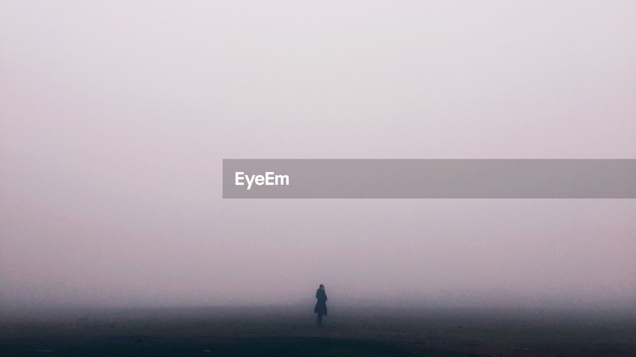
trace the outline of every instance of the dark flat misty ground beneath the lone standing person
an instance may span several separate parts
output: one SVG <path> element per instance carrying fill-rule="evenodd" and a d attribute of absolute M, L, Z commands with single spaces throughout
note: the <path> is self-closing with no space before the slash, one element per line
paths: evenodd
<path fill-rule="evenodd" d="M 636 356 L 636 313 L 329 306 L 3 316 L 0 356 Z"/>

